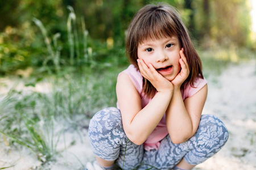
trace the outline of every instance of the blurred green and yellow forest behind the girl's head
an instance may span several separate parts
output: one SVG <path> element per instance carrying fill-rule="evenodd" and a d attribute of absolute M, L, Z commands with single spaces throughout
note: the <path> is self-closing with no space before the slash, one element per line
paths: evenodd
<path fill-rule="evenodd" d="M 256 49 L 249 0 L 1 0 L 0 75 L 28 66 L 53 73 L 96 62 L 125 64 L 127 26 L 139 8 L 156 2 L 179 10 L 198 50 L 246 49 L 235 57 L 221 54 L 236 62 Z"/>

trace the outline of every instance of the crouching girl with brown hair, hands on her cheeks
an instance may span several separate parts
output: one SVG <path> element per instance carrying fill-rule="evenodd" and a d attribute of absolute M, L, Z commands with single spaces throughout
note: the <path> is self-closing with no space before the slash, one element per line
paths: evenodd
<path fill-rule="evenodd" d="M 131 65 L 118 75 L 117 108 L 94 115 L 88 169 L 191 169 L 216 154 L 228 130 L 201 115 L 207 99 L 200 58 L 169 5 L 147 5 L 127 30 Z M 153 169 L 154 169 L 153 168 Z"/>

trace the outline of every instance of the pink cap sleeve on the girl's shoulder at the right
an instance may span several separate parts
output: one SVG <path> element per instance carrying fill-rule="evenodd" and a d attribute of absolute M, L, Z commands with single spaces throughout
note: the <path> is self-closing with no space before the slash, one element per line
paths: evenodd
<path fill-rule="evenodd" d="M 181 90 L 183 100 L 185 100 L 187 97 L 195 95 L 197 92 L 201 90 L 201 88 L 205 86 L 205 84 L 207 84 L 207 80 L 199 77 L 195 79 L 193 87 L 191 86 L 191 84 L 187 84 L 187 86 L 185 86 L 185 88 Z"/>

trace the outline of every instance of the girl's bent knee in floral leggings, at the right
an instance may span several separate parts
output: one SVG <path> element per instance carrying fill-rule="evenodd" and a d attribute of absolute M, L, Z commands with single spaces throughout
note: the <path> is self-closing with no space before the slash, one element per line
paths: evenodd
<path fill-rule="evenodd" d="M 216 154 L 228 141 L 229 132 L 216 116 L 203 114 L 196 134 L 190 139 L 193 150 L 184 157 L 189 164 L 199 164 Z"/>

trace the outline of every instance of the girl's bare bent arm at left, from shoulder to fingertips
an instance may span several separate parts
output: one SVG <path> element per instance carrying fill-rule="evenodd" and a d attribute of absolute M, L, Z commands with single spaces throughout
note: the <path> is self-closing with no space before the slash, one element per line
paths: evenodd
<path fill-rule="evenodd" d="M 152 80 L 154 87 L 158 90 L 150 103 L 142 109 L 141 97 L 125 73 L 119 75 L 116 91 L 123 129 L 130 141 L 142 145 L 166 112 L 171 101 L 173 86 L 171 82 L 157 73 L 152 65 L 147 67 L 143 61 L 138 65 L 143 76 L 146 74 L 144 71 L 147 71 L 147 78 Z"/>

